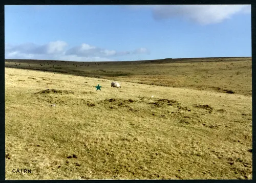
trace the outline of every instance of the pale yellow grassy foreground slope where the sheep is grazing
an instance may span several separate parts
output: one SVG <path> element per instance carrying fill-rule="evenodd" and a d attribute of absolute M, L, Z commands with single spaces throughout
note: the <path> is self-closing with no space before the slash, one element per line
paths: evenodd
<path fill-rule="evenodd" d="M 6 179 L 251 179 L 251 97 L 15 68 L 5 78 Z"/>

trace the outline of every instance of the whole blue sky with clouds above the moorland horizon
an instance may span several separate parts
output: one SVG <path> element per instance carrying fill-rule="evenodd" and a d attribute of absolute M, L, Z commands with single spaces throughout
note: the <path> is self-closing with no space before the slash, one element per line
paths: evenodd
<path fill-rule="evenodd" d="M 6 59 L 193 57 L 251 57 L 251 6 L 5 6 Z"/>

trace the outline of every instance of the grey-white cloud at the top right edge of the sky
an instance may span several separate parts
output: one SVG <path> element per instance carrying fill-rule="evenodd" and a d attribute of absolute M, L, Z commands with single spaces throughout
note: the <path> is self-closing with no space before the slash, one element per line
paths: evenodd
<path fill-rule="evenodd" d="M 129 9 L 150 9 L 156 20 L 182 18 L 201 25 L 217 24 L 237 13 L 250 13 L 250 5 L 132 5 Z"/>

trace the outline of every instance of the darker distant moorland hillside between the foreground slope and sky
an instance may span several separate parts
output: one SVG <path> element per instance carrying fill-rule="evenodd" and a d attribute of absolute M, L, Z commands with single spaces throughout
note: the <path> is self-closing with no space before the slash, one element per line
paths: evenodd
<path fill-rule="evenodd" d="M 235 94 L 251 96 L 251 57 L 98 62 L 98 65 L 48 60 L 6 60 L 5 63 L 14 68 L 220 93 L 232 90 Z"/>

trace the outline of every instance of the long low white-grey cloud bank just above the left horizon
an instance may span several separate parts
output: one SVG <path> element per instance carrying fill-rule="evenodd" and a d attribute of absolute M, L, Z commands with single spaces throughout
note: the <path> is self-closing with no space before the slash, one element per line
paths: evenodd
<path fill-rule="evenodd" d="M 24 43 L 11 45 L 5 43 L 6 59 L 44 59 L 67 61 L 115 61 L 115 56 L 150 54 L 146 48 L 133 51 L 108 50 L 87 43 L 67 49 L 65 41 L 52 41 L 44 45 Z"/>

